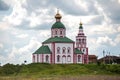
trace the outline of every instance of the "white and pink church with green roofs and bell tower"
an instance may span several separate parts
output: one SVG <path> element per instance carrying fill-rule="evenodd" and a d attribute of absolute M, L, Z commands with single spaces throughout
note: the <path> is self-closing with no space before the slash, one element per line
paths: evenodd
<path fill-rule="evenodd" d="M 56 22 L 51 27 L 51 37 L 42 42 L 32 54 L 33 63 L 50 64 L 88 64 L 88 47 L 86 36 L 80 22 L 76 42 L 66 36 L 66 27 L 61 22 L 59 11 L 55 15 Z"/>

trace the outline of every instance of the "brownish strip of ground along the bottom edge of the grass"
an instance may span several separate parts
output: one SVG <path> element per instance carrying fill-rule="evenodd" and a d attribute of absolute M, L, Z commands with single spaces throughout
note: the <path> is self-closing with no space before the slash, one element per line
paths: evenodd
<path fill-rule="evenodd" d="M 120 76 L 110 75 L 83 75 L 83 76 L 60 76 L 60 77 L 0 77 L 0 80 L 120 80 Z"/>

